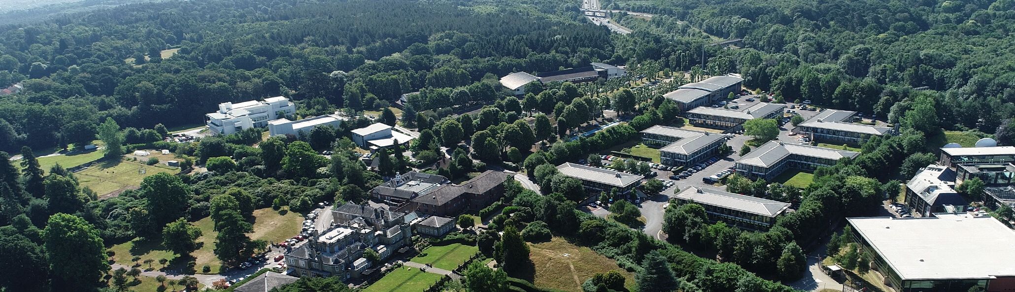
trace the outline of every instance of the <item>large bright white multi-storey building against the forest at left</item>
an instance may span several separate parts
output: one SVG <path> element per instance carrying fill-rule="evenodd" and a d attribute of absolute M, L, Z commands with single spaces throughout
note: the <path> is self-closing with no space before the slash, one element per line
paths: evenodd
<path fill-rule="evenodd" d="M 268 121 L 296 113 L 296 104 L 282 96 L 240 103 L 218 103 L 218 112 L 206 114 L 205 124 L 215 135 L 229 135 L 250 128 L 264 128 Z"/>

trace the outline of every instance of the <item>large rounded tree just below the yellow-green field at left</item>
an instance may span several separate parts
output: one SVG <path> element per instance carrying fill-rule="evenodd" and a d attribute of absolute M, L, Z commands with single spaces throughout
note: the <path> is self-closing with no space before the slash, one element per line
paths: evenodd
<path fill-rule="evenodd" d="M 146 199 L 145 209 L 151 214 L 155 226 L 163 226 L 180 218 L 187 210 L 191 191 L 180 176 L 166 172 L 156 173 L 141 180 L 141 197 Z"/>

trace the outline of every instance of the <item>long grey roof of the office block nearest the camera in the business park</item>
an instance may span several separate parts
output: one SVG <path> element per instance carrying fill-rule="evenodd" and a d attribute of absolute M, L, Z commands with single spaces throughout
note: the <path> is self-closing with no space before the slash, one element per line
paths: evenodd
<path fill-rule="evenodd" d="M 675 198 L 765 217 L 775 217 L 790 209 L 790 203 L 697 187 L 687 188 Z"/>

